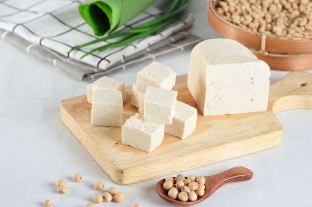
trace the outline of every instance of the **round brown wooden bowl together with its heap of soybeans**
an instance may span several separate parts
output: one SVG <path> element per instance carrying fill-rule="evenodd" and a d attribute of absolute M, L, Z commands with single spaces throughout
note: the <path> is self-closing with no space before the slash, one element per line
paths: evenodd
<path fill-rule="evenodd" d="M 275 70 L 312 69 L 312 0 L 209 0 L 208 21 Z"/>

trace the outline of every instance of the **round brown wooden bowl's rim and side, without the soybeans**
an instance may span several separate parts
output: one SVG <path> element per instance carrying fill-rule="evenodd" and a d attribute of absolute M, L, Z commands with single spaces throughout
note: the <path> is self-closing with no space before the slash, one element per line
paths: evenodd
<path fill-rule="evenodd" d="M 279 37 L 249 31 L 224 20 L 217 12 L 218 0 L 208 1 L 208 21 L 225 38 L 248 47 L 258 59 L 275 70 L 312 69 L 312 37 Z"/>

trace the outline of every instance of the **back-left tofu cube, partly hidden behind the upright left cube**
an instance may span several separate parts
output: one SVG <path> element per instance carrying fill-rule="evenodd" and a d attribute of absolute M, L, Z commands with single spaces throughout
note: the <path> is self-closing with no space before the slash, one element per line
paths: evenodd
<path fill-rule="evenodd" d="M 111 77 L 103 76 L 93 83 L 87 85 L 87 99 L 89 103 L 92 103 L 93 85 L 105 88 L 107 90 L 119 90 L 122 92 L 123 101 L 126 100 L 125 82 L 116 80 Z"/>

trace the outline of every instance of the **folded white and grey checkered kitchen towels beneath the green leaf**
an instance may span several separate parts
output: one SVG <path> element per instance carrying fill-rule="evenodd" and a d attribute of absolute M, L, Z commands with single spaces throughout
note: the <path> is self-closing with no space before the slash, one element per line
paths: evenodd
<path fill-rule="evenodd" d="M 80 59 L 99 46 L 97 43 L 68 54 L 73 47 L 98 38 L 79 15 L 80 3 L 79 0 L 0 0 L 1 38 L 81 80 L 155 60 L 202 41 L 185 31 L 193 23 L 192 15 L 187 14 L 156 35 Z M 118 30 L 142 24 L 159 13 L 151 6 Z"/>

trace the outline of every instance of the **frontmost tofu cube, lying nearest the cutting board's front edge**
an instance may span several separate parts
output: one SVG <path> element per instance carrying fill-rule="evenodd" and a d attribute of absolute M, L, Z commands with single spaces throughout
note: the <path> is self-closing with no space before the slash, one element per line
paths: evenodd
<path fill-rule="evenodd" d="M 148 122 L 142 114 L 130 117 L 121 128 L 121 142 L 151 153 L 164 137 L 164 125 Z"/>

